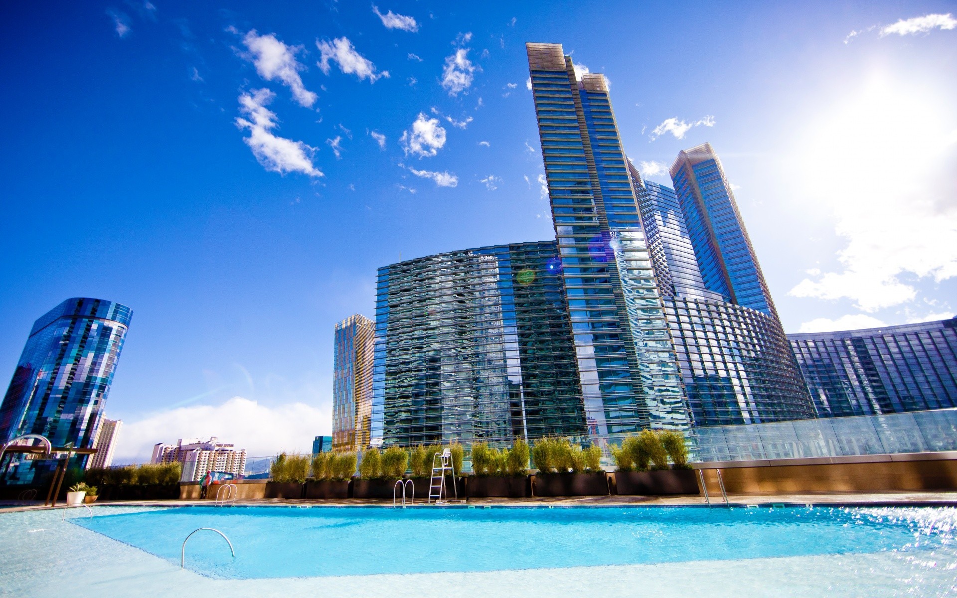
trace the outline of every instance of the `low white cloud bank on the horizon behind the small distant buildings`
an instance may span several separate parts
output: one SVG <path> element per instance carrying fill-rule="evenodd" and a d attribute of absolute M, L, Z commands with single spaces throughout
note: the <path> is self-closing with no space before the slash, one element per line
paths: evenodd
<path fill-rule="evenodd" d="M 145 462 L 153 445 L 178 438 L 209 438 L 246 449 L 249 456 L 282 451 L 310 453 L 316 434 L 328 433 L 332 414 L 304 403 L 276 407 L 233 397 L 222 405 L 181 407 L 123 422 L 117 436 L 116 461 Z"/>

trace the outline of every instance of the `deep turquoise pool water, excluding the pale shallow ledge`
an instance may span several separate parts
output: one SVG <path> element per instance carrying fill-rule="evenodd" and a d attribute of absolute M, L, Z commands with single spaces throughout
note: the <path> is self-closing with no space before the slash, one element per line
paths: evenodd
<path fill-rule="evenodd" d="M 957 567 L 953 509 L 165 508 L 71 520 L 218 579 L 502 571 L 895 551 Z"/>

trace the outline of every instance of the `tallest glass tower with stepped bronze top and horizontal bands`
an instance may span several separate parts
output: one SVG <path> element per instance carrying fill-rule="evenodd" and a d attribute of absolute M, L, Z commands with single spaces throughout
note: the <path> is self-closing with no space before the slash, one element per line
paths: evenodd
<path fill-rule="evenodd" d="M 608 86 L 526 44 L 578 377 L 596 438 L 689 425 Z"/>

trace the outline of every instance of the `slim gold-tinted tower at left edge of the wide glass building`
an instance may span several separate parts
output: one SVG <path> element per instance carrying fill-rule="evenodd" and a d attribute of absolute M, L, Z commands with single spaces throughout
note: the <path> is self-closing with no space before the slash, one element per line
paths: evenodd
<path fill-rule="evenodd" d="M 355 314 L 336 324 L 332 375 L 332 448 L 365 451 L 372 410 L 375 325 Z"/>

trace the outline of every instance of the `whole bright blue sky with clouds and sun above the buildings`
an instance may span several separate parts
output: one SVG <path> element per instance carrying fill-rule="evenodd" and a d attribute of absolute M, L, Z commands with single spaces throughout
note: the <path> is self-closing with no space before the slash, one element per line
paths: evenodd
<path fill-rule="evenodd" d="M 553 238 L 526 41 L 610 79 L 653 180 L 715 146 L 788 331 L 953 313 L 952 2 L 0 11 L 0 364 L 63 299 L 129 305 L 121 459 L 307 450 L 377 267 Z"/>

